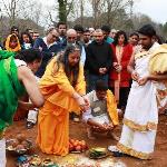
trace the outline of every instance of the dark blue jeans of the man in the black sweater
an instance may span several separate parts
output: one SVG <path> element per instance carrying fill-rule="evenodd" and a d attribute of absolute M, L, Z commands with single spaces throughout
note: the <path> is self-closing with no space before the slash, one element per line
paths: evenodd
<path fill-rule="evenodd" d="M 106 85 L 108 86 L 108 75 L 92 75 L 92 73 L 89 73 L 89 89 L 88 89 L 88 92 L 95 90 L 95 86 L 96 86 L 96 82 L 98 80 L 104 80 L 106 82 Z"/>

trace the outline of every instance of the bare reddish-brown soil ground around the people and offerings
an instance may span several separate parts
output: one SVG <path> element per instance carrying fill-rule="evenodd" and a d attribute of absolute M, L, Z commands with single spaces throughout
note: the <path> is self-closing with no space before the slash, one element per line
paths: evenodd
<path fill-rule="evenodd" d="M 109 145 L 116 145 L 116 141 L 106 137 L 98 136 L 96 140 L 89 140 L 86 134 L 86 127 L 82 122 L 72 122 L 70 121 L 70 137 L 77 139 L 85 139 L 89 147 L 107 147 Z M 121 127 L 116 130 L 116 134 L 120 135 Z M 26 121 L 17 121 L 6 131 L 6 138 L 12 138 L 17 134 L 23 132 L 27 138 L 31 139 L 33 144 L 36 143 L 37 127 L 28 130 L 26 128 Z M 37 154 L 40 157 L 45 158 L 48 155 L 45 155 L 36 147 L 32 150 L 32 154 Z M 51 156 L 50 156 L 51 157 Z M 59 157 L 60 158 L 60 157 Z M 115 158 L 116 160 L 121 160 L 127 165 L 127 167 L 167 167 L 167 116 L 160 116 L 158 132 L 156 138 L 156 147 L 154 153 L 154 158 L 151 160 L 139 160 L 132 157 L 120 157 Z M 7 167 L 16 166 L 16 156 L 7 154 Z"/>

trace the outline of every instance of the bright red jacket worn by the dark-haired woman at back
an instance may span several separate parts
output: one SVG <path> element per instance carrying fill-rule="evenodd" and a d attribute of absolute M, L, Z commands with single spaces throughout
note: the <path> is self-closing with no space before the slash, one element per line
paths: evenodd
<path fill-rule="evenodd" d="M 114 51 L 114 62 L 117 62 L 117 57 L 116 57 L 116 46 L 111 43 L 111 49 Z M 130 73 L 127 71 L 127 66 L 129 63 L 130 57 L 132 55 L 132 46 L 131 45 L 126 45 L 124 47 L 122 51 L 122 57 L 121 57 L 121 67 L 122 70 L 120 71 L 120 87 L 129 87 L 129 80 L 130 80 Z M 109 73 L 109 80 L 110 80 L 110 86 L 114 87 L 114 81 L 118 79 L 118 72 L 112 68 Z"/>

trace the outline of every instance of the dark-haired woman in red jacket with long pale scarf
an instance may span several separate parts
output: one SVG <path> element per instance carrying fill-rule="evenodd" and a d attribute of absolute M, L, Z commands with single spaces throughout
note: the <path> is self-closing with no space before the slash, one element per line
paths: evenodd
<path fill-rule="evenodd" d="M 111 49 L 115 55 L 112 69 L 109 75 L 109 86 L 118 101 L 118 108 L 125 109 L 129 94 L 130 75 L 127 71 L 127 66 L 132 55 L 132 46 L 128 43 L 128 38 L 125 31 L 118 31 L 115 41 L 111 43 Z"/>

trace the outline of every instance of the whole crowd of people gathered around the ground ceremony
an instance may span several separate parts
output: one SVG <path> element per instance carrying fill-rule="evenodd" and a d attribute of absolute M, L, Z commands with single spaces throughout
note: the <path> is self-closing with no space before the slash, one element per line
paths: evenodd
<path fill-rule="evenodd" d="M 69 153 L 72 119 L 86 124 L 89 139 L 106 132 L 119 153 L 150 158 L 158 112 L 167 109 L 167 47 L 153 26 L 128 36 L 108 26 L 68 29 L 59 22 L 45 37 L 12 27 L 0 49 L 2 167 L 6 128 L 26 117 L 27 128 L 38 120 L 37 145 L 46 154 Z M 119 115 L 120 139 L 114 132 Z"/>

